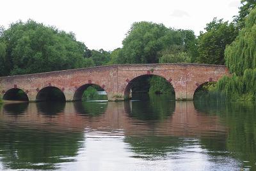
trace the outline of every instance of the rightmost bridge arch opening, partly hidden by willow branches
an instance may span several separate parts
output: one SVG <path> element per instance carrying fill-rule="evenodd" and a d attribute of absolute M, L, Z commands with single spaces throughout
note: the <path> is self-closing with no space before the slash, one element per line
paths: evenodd
<path fill-rule="evenodd" d="M 211 88 L 211 86 L 215 86 L 216 82 L 204 82 L 203 84 L 200 84 L 193 95 L 193 100 L 200 100 L 201 98 L 205 97 L 205 95 L 207 95 L 207 93 L 209 92 L 209 88 Z"/>

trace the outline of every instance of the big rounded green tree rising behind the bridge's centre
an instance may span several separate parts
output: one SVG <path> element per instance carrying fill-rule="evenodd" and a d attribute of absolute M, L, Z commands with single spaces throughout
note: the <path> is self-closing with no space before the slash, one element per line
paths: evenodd
<path fill-rule="evenodd" d="M 182 36 L 163 24 L 135 22 L 122 43 L 119 63 L 158 63 L 158 52 L 170 45 L 182 45 Z"/>

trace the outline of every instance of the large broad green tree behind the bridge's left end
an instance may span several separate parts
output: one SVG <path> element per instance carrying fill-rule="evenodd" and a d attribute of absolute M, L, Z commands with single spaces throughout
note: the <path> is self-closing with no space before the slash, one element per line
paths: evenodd
<path fill-rule="evenodd" d="M 5 70 L 1 75 L 17 75 L 67 70 L 88 66 L 84 59 L 86 46 L 76 41 L 73 33 L 65 33 L 33 20 L 15 22 L 3 31 Z"/>

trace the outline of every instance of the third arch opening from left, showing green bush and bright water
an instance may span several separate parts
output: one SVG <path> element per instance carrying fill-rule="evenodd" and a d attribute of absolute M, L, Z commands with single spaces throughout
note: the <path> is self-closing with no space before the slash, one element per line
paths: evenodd
<path fill-rule="evenodd" d="M 97 84 L 84 84 L 76 89 L 74 101 L 108 100 L 108 93 L 104 87 Z"/>

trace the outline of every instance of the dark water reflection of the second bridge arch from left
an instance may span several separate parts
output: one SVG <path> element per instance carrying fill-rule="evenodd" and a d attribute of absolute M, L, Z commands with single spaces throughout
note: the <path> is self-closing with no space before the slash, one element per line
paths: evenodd
<path fill-rule="evenodd" d="M 55 115 L 63 112 L 65 108 L 65 101 L 42 101 L 36 103 L 38 112 L 45 115 Z"/>

